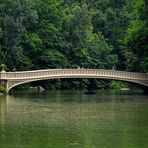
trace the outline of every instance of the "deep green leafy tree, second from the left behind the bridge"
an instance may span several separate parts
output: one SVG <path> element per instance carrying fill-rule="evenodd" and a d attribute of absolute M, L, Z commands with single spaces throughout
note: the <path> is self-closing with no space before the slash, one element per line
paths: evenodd
<path fill-rule="evenodd" d="M 28 56 L 33 61 L 34 69 L 60 68 L 67 65 L 67 58 L 62 53 L 64 43 L 61 29 L 64 12 L 61 5 L 61 1 L 57 0 L 37 0 L 36 2 L 39 19 L 35 25 L 35 31 L 29 34 L 31 38 L 27 37 L 26 42 L 31 49 Z M 33 56 L 33 53 L 36 56 Z"/>

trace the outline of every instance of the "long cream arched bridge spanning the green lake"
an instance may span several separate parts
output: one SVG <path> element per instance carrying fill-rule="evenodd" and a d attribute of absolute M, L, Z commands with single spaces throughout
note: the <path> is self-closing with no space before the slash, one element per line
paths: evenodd
<path fill-rule="evenodd" d="M 0 87 L 11 88 L 38 80 L 59 78 L 100 78 L 132 82 L 148 90 L 148 74 L 105 69 L 47 69 L 35 71 L 0 72 Z"/>

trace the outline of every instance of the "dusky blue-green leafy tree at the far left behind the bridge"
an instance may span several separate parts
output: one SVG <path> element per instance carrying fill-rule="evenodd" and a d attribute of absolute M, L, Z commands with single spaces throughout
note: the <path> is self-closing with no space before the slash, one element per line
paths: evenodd
<path fill-rule="evenodd" d="M 28 63 L 28 58 L 23 53 L 21 45 L 22 35 L 25 31 L 24 22 L 32 6 L 31 0 L 11 1 L 2 0 L 0 11 L 2 14 L 4 63 L 12 70 L 13 67 L 23 69 Z M 9 59 L 9 60 L 7 60 Z"/>

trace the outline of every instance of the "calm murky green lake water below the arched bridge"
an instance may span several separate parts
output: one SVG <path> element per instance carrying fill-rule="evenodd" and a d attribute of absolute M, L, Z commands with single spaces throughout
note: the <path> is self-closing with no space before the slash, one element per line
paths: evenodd
<path fill-rule="evenodd" d="M 51 91 L 0 97 L 0 148 L 148 148 L 148 96 Z"/>

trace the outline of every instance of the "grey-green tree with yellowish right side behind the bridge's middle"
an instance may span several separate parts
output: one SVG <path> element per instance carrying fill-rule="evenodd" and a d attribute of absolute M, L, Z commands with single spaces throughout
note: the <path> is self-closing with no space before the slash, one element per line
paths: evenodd
<path fill-rule="evenodd" d="M 91 23 L 92 12 L 86 4 L 75 5 L 69 12 L 70 17 L 66 23 L 67 56 L 73 64 L 91 68 L 107 68 L 113 66 L 114 62 L 110 55 L 112 47 L 109 46 L 101 33 L 93 33 Z M 67 24 L 69 24 L 67 26 Z"/>

